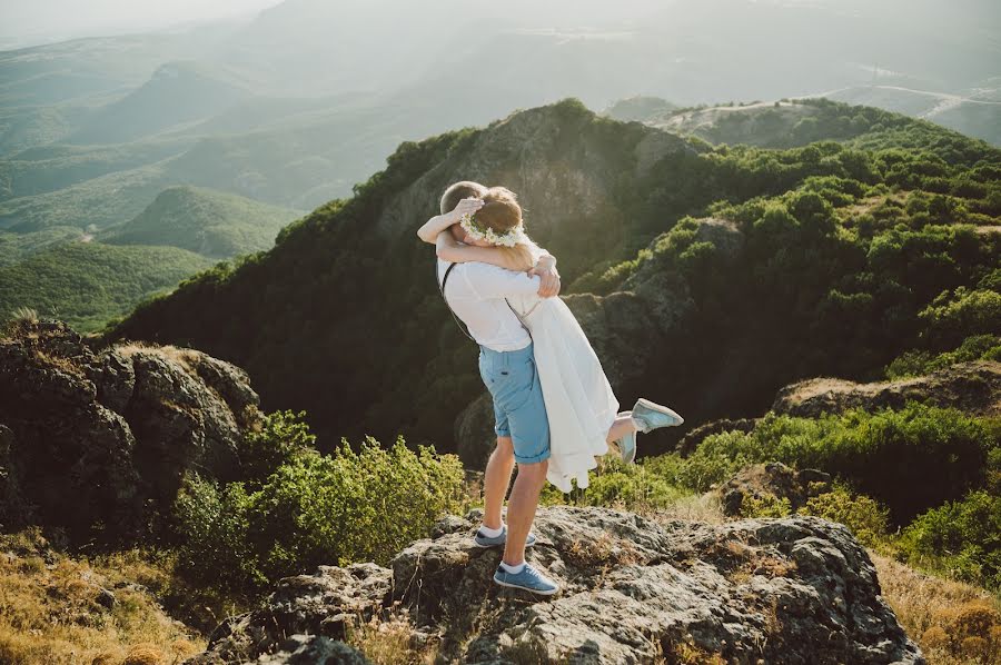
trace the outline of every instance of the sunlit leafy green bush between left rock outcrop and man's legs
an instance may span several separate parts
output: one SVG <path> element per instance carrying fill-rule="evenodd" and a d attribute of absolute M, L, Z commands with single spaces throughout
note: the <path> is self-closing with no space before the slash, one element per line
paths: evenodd
<path fill-rule="evenodd" d="M 187 479 L 175 530 L 178 569 L 189 579 L 246 593 L 318 565 L 386 565 L 443 513 L 458 510 L 463 468 L 454 455 L 414 451 L 402 438 L 385 449 L 367 438 L 357 451 L 344 440 L 321 455 L 296 420 L 304 415 L 271 414 L 248 439 L 247 480 Z M 268 456 L 258 456 L 264 449 Z"/>

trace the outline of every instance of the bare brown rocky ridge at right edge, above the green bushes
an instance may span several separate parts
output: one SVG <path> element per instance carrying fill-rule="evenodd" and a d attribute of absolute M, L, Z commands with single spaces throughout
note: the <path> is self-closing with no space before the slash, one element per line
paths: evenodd
<path fill-rule="evenodd" d="M 815 418 L 823 413 L 840 414 L 856 407 L 899 409 L 910 400 L 973 414 L 1001 414 L 1001 363 L 960 363 L 926 376 L 873 384 L 809 379 L 780 390 L 772 410 Z"/>

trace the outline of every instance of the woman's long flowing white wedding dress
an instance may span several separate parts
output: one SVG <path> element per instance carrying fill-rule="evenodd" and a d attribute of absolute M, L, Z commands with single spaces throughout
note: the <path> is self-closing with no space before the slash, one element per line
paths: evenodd
<path fill-rule="evenodd" d="M 606 438 L 618 415 L 618 400 L 576 317 L 558 296 L 508 298 L 532 334 L 535 366 L 549 418 L 546 478 L 562 492 L 588 486 L 596 455 L 608 453 Z"/>

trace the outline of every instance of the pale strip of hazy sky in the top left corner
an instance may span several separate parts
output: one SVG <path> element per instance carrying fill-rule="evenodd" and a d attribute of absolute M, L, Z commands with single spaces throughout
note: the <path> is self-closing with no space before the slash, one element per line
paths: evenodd
<path fill-rule="evenodd" d="M 0 0 L 0 42 L 59 39 L 161 28 L 259 11 L 281 0 Z"/>

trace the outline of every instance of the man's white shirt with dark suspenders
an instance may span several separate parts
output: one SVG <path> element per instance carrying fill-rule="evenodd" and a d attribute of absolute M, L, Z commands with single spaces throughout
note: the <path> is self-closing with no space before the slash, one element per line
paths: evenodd
<path fill-rule="evenodd" d="M 438 259 L 438 284 L 450 264 Z M 532 344 L 528 331 L 505 297 L 531 296 L 542 279 L 489 264 L 456 264 L 445 284 L 445 299 L 480 345 L 495 351 L 516 351 Z"/>

